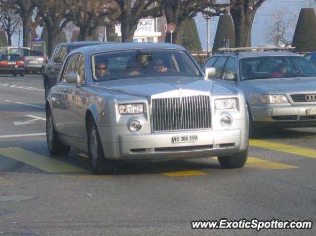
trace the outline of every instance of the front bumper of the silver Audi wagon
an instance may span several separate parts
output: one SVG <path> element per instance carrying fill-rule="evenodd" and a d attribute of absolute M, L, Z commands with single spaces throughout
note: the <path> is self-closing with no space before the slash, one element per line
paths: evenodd
<path fill-rule="evenodd" d="M 254 124 L 259 128 L 316 127 L 316 115 L 307 115 L 316 104 L 250 106 Z"/>

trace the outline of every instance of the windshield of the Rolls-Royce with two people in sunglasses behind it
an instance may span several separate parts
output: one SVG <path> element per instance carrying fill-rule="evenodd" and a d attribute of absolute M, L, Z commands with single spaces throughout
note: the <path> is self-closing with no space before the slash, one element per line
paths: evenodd
<path fill-rule="evenodd" d="M 144 76 L 201 76 L 185 51 L 135 49 L 92 56 L 94 81 Z"/>

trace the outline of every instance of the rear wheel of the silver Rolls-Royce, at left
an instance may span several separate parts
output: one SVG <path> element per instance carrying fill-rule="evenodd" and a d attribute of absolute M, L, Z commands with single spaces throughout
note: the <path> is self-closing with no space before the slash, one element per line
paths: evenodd
<path fill-rule="evenodd" d="M 58 139 L 58 133 L 54 128 L 54 120 L 50 109 L 46 113 L 46 140 L 50 155 L 67 156 L 71 147 L 61 143 Z"/>

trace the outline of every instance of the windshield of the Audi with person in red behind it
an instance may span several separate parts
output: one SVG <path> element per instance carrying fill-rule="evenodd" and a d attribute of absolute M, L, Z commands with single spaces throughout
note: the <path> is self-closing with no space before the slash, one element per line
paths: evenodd
<path fill-rule="evenodd" d="M 240 79 L 316 77 L 316 67 L 300 56 L 252 57 L 240 60 Z"/>

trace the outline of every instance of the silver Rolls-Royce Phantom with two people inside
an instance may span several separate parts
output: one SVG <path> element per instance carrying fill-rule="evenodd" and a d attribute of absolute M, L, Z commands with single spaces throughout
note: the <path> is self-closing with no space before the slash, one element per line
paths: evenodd
<path fill-rule="evenodd" d="M 46 100 L 51 155 L 87 152 L 97 174 L 118 160 L 217 156 L 243 167 L 249 119 L 243 93 L 209 80 L 183 47 L 118 43 L 72 51 Z"/>

